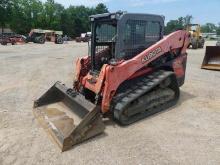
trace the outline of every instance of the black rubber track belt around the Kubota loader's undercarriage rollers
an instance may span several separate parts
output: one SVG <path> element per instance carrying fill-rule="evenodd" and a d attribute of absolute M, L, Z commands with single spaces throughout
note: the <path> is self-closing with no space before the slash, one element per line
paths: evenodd
<path fill-rule="evenodd" d="M 129 119 L 125 119 L 123 117 L 123 111 L 132 101 L 136 100 L 137 98 L 151 91 L 153 88 L 160 85 L 161 82 L 163 82 L 165 79 L 173 75 L 174 73 L 171 71 L 159 70 L 159 71 L 153 72 L 149 76 L 139 79 L 137 82 L 132 84 L 131 88 L 127 88 L 127 90 L 124 91 L 123 93 L 116 95 L 115 98 L 113 98 L 113 105 L 115 105 L 113 108 L 114 118 L 120 124 L 128 125 L 142 118 L 150 116 L 154 113 L 160 112 L 163 109 L 167 109 L 170 106 L 176 104 L 176 101 L 178 100 L 179 95 L 173 101 L 170 101 L 164 104 L 163 106 L 160 106 L 160 108 L 156 108 L 151 111 L 142 112 L 140 115 L 133 116 Z M 177 92 L 179 93 L 179 88 L 177 89 L 178 89 Z"/>

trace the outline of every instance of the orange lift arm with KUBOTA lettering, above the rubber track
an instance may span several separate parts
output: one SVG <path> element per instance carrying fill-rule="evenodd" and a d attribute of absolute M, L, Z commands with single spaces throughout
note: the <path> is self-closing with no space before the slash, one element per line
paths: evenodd
<path fill-rule="evenodd" d="M 167 52 L 181 49 L 180 54 L 186 54 L 188 44 L 189 34 L 183 30 L 176 31 L 132 59 L 124 61 L 117 66 L 107 66 L 102 111 L 107 112 L 109 110 L 111 99 L 122 82 L 127 80 L 141 68 L 146 67 L 155 59 L 165 55 Z"/>

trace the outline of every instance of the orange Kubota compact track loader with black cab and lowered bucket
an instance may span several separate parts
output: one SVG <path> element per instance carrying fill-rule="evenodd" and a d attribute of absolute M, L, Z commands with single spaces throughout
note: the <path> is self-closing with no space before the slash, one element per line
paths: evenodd
<path fill-rule="evenodd" d="M 55 83 L 34 115 L 62 151 L 101 134 L 103 118 L 128 125 L 175 105 L 183 85 L 189 33 L 163 37 L 164 17 L 93 15 L 90 55 L 76 62 L 73 88 Z"/>

